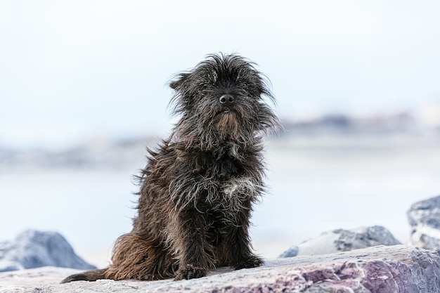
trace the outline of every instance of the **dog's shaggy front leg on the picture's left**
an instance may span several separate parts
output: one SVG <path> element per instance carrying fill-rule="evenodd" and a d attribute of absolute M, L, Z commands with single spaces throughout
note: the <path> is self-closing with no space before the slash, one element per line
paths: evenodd
<path fill-rule="evenodd" d="M 214 268 L 212 246 L 206 239 L 205 218 L 197 209 L 186 209 L 176 219 L 179 226 L 175 241 L 179 257 L 176 280 L 201 278 Z"/>

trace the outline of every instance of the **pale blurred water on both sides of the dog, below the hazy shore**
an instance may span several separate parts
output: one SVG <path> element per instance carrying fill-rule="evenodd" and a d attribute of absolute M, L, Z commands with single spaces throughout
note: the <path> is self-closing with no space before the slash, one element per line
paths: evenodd
<path fill-rule="evenodd" d="M 127 159 L 127 153 L 119 159 Z M 143 146 L 120 167 L 13 168 L 0 173 L 1 239 L 27 228 L 62 233 L 86 261 L 108 265 L 131 229 Z M 268 194 L 254 209 L 266 258 L 325 230 L 385 226 L 406 243 L 410 205 L 440 193 L 440 137 L 289 136 L 268 141 Z"/>

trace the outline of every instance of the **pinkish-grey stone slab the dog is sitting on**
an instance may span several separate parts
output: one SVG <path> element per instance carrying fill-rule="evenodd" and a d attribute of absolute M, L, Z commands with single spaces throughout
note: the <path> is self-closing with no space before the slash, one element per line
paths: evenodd
<path fill-rule="evenodd" d="M 439 292 L 440 257 L 403 245 L 266 261 L 260 268 L 221 268 L 195 280 L 134 280 L 58 284 L 77 271 L 37 268 L 0 273 L 0 292 Z"/>

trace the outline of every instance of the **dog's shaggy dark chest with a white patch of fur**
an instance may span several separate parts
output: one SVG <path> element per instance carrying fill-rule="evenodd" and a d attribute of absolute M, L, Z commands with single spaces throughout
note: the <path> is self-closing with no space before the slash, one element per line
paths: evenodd
<path fill-rule="evenodd" d="M 190 171 L 181 169 L 172 196 L 194 201 L 198 210 L 235 213 L 250 209 L 261 195 L 261 166 L 255 154 L 207 151 L 192 152 L 187 158 Z"/>

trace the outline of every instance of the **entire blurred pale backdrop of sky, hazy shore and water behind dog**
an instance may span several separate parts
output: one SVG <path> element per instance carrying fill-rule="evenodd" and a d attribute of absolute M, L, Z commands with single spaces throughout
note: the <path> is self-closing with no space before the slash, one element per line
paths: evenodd
<path fill-rule="evenodd" d="M 440 2 L 0 1 L 0 241 L 62 233 L 106 266 L 132 175 L 169 133 L 173 74 L 240 53 L 271 79 L 252 239 L 271 258 L 325 230 L 382 225 L 440 193 Z"/>

